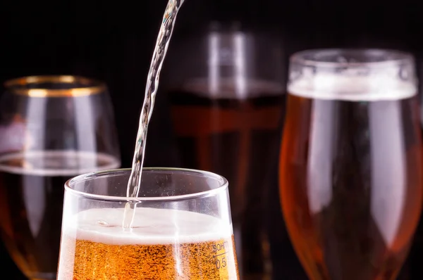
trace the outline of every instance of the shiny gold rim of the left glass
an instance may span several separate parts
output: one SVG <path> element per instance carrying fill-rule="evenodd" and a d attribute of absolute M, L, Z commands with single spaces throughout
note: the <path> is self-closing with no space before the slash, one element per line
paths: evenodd
<path fill-rule="evenodd" d="M 42 83 L 75 84 L 68 89 L 49 89 L 47 87 L 28 87 Z M 79 84 L 79 85 L 76 85 Z M 99 94 L 106 89 L 106 84 L 97 79 L 74 75 L 37 75 L 9 79 L 4 87 L 14 94 L 48 98 L 48 97 L 78 97 Z"/>

